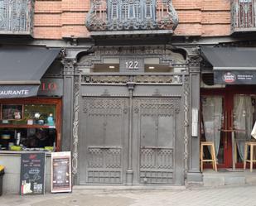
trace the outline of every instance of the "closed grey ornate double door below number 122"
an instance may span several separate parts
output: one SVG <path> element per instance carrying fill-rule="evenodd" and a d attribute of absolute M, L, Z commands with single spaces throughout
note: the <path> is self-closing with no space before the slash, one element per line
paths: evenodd
<path fill-rule="evenodd" d="M 80 184 L 174 184 L 180 103 L 171 96 L 82 96 Z"/>

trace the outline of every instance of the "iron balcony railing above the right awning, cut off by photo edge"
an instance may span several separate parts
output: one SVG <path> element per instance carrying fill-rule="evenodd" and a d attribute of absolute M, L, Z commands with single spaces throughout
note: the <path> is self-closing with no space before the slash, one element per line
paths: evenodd
<path fill-rule="evenodd" d="M 233 0 L 231 14 L 233 33 L 256 31 L 256 0 Z"/>

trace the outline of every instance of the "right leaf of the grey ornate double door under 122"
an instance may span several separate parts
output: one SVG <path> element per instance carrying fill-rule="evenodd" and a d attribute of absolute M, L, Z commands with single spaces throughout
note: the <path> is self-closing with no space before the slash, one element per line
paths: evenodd
<path fill-rule="evenodd" d="M 176 115 L 179 98 L 137 98 L 133 125 L 138 126 L 138 182 L 173 184 Z M 138 122 L 138 123 L 136 123 Z"/>

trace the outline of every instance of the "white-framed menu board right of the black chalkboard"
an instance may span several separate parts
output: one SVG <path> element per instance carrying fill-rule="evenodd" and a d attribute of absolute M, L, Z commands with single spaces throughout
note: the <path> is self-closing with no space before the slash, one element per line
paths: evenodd
<path fill-rule="evenodd" d="M 71 192 L 71 152 L 51 153 L 51 192 Z"/>

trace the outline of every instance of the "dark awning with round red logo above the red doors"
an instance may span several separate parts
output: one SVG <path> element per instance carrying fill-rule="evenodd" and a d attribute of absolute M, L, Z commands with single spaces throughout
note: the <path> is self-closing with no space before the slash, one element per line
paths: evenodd
<path fill-rule="evenodd" d="M 215 84 L 256 84 L 256 48 L 201 46 L 213 66 Z"/>

